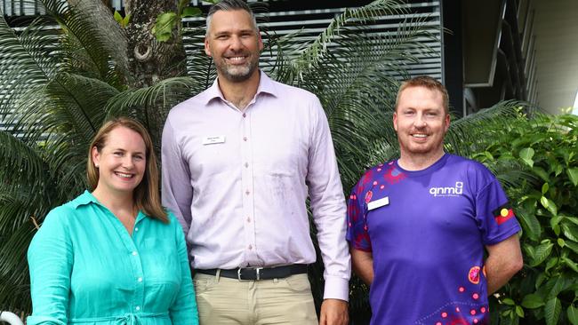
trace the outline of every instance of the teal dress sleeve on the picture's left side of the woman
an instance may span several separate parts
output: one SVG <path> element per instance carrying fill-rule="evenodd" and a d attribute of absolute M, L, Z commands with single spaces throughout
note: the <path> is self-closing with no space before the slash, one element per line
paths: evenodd
<path fill-rule="evenodd" d="M 52 210 L 28 247 L 32 315 L 28 324 L 67 324 L 73 250 L 68 208 Z"/>

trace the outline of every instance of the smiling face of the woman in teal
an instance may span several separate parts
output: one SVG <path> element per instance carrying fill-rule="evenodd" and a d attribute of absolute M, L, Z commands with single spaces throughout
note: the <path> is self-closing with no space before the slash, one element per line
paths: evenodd
<path fill-rule="evenodd" d="M 139 133 L 117 126 L 108 132 L 100 152 L 92 147 L 92 163 L 99 170 L 97 187 L 112 194 L 132 194 L 146 170 L 147 147 Z"/>

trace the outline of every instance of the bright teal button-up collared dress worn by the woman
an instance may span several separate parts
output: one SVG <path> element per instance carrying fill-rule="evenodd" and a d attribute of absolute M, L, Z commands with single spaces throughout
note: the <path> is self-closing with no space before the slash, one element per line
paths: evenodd
<path fill-rule="evenodd" d="M 92 194 L 52 210 L 28 248 L 33 324 L 198 324 L 181 225 L 139 212 L 132 236 Z"/>

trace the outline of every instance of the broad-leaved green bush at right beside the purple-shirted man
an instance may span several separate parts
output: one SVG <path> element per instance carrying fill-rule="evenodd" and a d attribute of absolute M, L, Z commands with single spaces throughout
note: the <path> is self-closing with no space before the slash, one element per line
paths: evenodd
<path fill-rule="evenodd" d="M 578 324 L 578 117 L 518 111 L 486 123 L 474 159 L 516 163 L 529 177 L 506 186 L 523 228 L 525 267 L 494 300 L 494 324 Z"/>

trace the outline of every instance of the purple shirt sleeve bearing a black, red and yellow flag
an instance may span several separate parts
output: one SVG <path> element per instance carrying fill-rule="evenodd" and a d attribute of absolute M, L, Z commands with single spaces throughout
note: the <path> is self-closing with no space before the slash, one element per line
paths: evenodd
<path fill-rule="evenodd" d="M 476 197 L 476 218 L 485 245 L 502 242 L 520 231 L 508 197 L 494 177 Z"/>

